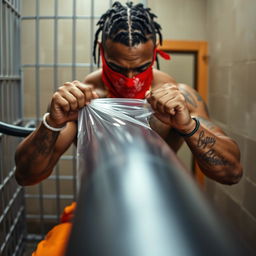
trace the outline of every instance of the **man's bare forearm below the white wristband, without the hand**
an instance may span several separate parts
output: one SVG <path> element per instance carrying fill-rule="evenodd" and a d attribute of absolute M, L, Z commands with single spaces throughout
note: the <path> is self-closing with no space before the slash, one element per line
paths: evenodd
<path fill-rule="evenodd" d="M 58 136 L 59 132 L 50 131 L 41 124 L 19 145 L 15 154 L 15 176 L 20 185 L 37 183 L 49 175 Z"/>

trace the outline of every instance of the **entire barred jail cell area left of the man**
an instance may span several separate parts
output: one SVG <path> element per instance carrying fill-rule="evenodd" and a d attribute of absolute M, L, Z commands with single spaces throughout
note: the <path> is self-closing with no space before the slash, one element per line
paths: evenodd
<path fill-rule="evenodd" d="M 35 127 L 58 86 L 82 81 L 96 68 L 91 56 L 95 25 L 112 3 L 0 1 L 0 121 Z M 76 199 L 75 148 L 61 157 L 46 181 L 24 189 L 14 179 L 19 142 L 0 134 L 1 255 L 22 255 L 25 244 L 41 240 Z"/>

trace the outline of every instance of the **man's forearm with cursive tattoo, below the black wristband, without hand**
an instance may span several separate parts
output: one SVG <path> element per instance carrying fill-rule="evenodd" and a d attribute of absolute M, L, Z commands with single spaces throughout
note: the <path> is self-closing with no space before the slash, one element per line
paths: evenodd
<path fill-rule="evenodd" d="M 242 176 L 242 167 L 236 143 L 230 138 L 214 132 L 202 120 L 199 130 L 193 136 L 185 139 L 201 170 L 205 175 L 218 182 L 237 183 Z"/>

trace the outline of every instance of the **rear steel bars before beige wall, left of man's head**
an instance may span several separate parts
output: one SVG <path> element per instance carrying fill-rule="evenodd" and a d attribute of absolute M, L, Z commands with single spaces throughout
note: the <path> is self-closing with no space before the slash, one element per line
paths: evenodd
<path fill-rule="evenodd" d="M 83 81 L 97 68 L 92 61 L 96 22 L 113 1 L 22 3 L 24 120 L 38 124 L 59 86 L 67 81 Z M 72 147 L 61 157 L 47 180 L 25 188 L 29 239 L 41 239 L 59 222 L 63 208 L 75 200 L 75 150 Z"/>

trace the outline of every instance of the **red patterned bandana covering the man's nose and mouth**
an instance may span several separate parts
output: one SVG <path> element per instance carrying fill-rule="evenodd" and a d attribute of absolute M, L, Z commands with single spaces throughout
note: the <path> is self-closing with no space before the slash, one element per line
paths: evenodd
<path fill-rule="evenodd" d="M 103 47 L 101 46 L 102 80 L 109 89 L 110 96 L 115 98 L 144 99 L 146 92 L 150 89 L 152 84 L 152 66 L 157 52 L 158 50 L 155 49 L 152 64 L 145 71 L 132 78 L 128 78 L 108 66 L 104 57 Z"/>

